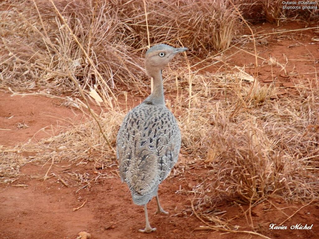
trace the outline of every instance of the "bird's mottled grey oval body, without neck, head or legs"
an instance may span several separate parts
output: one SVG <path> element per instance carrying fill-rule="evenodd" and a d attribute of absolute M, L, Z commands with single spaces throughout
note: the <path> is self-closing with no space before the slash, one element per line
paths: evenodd
<path fill-rule="evenodd" d="M 181 133 L 165 105 L 144 101 L 126 115 L 116 147 L 121 179 L 133 202 L 144 205 L 157 195 L 159 184 L 177 162 Z"/>

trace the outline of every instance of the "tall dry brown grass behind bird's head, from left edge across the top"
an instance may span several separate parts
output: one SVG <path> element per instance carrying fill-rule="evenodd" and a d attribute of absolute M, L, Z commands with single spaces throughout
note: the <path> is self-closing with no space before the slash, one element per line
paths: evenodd
<path fill-rule="evenodd" d="M 229 47 L 239 21 L 228 0 L 146 1 L 150 43 L 187 45 L 197 56 Z M 1 12 L 2 87 L 53 94 L 96 84 L 105 98 L 125 87 L 145 94 L 144 1 L 12 1 Z M 103 91 L 105 89 L 105 91 Z M 116 101 L 113 97 L 112 100 Z"/>

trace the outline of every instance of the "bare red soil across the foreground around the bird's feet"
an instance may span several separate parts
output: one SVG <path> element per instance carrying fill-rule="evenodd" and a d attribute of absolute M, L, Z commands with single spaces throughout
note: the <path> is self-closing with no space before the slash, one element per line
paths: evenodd
<path fill-rule="evenodd" d="M 62 168 L 62 167 L 63 168 Z M 94 176 L 92 164 L 85 167 L 56 164 L 50 170 L 66 180 L 68 171 L 88 173 Z M 116 177 L 116 168 L 100 169 L 99 172 L 108 175 L 96 184 L 76 191 L 82 186 L 70 184 L 65 187 L 56 177 L 48 178 L 45 182 L 30 179 L 30 176 L 45 175 L 49 165 L 41 167 L 28 164 L 22 173 L 26 176 L 12 185 L 2 185 L 0 188 L 0 232 L 3 238 L 76 238 L 77 233 L 86 231 L 93 239 L 103 238 L 237 238 L 234 234 L 194 230 L 202 222 L 191 213 L 182 214 L 182 210 L 190 208 L 192 194 L 176 193 L 180 189 L 191 190 L 199 184 L 206 170 L 186 171 L 182 177 L 165 180 L 159 188 L 159 198 L 169 215 L 155 215 L 156 202 L 153 199 L 148 204 L 150 223 L 157 231 L 152 234 L 141 234 L 137 229 L 144 228 L 144 211 L 141 206 L 134 205 L 128 187 Z M 69 170 L 65 170 L 69 169 Z M 63 170 L 63 171 L 62 171 Z M 194 175 L 194 173 L 196 173 Z M 95 177 L 95 176 L 94 176 Z M 24 186 L 22 186 L 24 185 Z M 73 211 L 73 208 L 83 207 Z M 287 204 L 282 199 L 273 199 L 272 205 L 265 201 L 252 209 L 251 218 L 244 215 L 235 219 L 233 225 L 249 229 L 253 222 L 257 232 L 272 238 L 318 238 L 319 235 L 319 205 L 303 207 L 283 225 L 286 230 L 269 230 L 271 223 L 279 224 L 288 216 L 294 214 L 302 205 Z M 244 210 L 248 206 L 242 206 Z M 226 211 L 224 218 L 230 219 L 241 213 L 241 208 L 228 202 L 217 202 L 216 208 Z M 279 210 L 281 209 L 281 210 Z M 252 220 L 252 222 L 250 221 Z M 314 224 L 311 230 L 291 230 L 296 224 Z M 242 229 L 241 229 L 242 230 Z M 240 233 L 238 238 L 260 238 Z"/>

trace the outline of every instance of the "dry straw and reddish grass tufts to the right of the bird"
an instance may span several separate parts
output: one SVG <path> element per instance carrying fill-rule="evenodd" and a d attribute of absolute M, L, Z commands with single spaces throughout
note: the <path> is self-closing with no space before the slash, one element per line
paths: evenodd
<path fill-rule="evenodd" d="M 205 87 L 198 86 L 199 79 Z M 273 85 L 243 79 L 247 76 L 241 79 L 238 72 L 197 75 L 191 123 L 187 113 L 178 118 L 182 149 L 191 145 L 191 163 L 207 170 L 198 185 L 179 192 L 194 196 L 185 212 L 209 222 L 206 229 L 238 230 L 216 207 L 225 199 L 251 208 L 272 197 L 311 202 L 319 196 L 318 85 L 301 81 L 298 95 L 282 96 Z M 181 102 L 185 112 L 188 100 Z M 191 138 L 189 132 L 199 137 Z"/>

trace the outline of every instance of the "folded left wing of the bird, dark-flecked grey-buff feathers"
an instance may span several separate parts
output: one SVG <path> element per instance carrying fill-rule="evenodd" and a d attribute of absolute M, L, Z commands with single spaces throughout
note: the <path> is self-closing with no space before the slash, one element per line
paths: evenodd
<path fill-rule="evenodd" d="M 150 147 L 150 137 L 145 129 L 149 117 L 134 112 L 124 119 L 117 137 L 117 159 L 120 176 L 130 190 L 143 195 L 159 183 L 157 155 Z"/>

